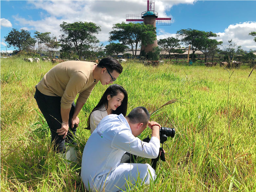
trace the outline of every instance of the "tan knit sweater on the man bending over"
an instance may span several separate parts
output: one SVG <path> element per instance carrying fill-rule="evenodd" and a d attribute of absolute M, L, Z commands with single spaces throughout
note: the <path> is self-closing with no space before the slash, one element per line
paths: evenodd
<path fill-rule="evenodd" d="M 93 88 L 93 66 L 96 63 L 86 61 L 65 61 L 54 66 L 36 85 L 44 95 L 60 96 L 61 108 L 69 109 L 79 93 L 77 101 L 85 103 Z"/>

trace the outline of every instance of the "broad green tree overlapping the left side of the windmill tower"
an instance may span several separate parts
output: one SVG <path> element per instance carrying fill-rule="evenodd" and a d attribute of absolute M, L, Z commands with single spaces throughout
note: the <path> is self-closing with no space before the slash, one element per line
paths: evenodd
<path fill-rule="evenodd" d="M 109 41 L 119 41 L 124 45 L 130 45 L 133 56 L 137 55 L 139 43 L 143 45 L 152 44 L 156 40 L 156 28 L 144 23 L 117 23 L 114 24 L 109 34 Z M 135 44 L 135 54 L 134 54 Z"/>

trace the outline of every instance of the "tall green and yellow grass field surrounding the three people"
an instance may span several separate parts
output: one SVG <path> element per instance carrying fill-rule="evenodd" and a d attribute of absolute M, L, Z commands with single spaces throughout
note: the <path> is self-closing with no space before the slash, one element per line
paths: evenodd
<path fill-rule="evenodd" d="M 166 162 L 159 161 L 159 177 L 149 191 L 256 191 L 255 70 L 248 78 L 247 67 L 122 65 L 115 83 L 128 92 L 128 112 L 137 106 L 153 112 L 179 98 L 152 118 L 174 127 L 176 135 L 165 142 Z M 51 150 L 49 128 L 33 98 L 34 86 L 52 67 L 50 62 L 1 58 L 1 192 L 85 191 L 80 163 L 90 131 L 84 128 L 107 87 L 97 84 L 79 113 L 79 163 L 66 166 Z M 141 139 L 147 135 L 149 129 Z M 132 190 L 143 191 L 140 186 Z"/>

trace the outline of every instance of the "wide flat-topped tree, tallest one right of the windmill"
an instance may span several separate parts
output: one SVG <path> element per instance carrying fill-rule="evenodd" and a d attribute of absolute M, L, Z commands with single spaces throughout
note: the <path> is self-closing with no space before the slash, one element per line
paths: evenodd
<path fill-rule="evenodd" d="M 192 48 L 192 60 L 194 59 L 194 54 L 199 47 L 202 46 L 202 43 L 206 38 L 217 37 L 216 33 L 199 31 L 195 29 L 181 29 L 177 31 L 177 37 L 181 38 L 181 42 L 185 45 L 191 45 Z"/>

